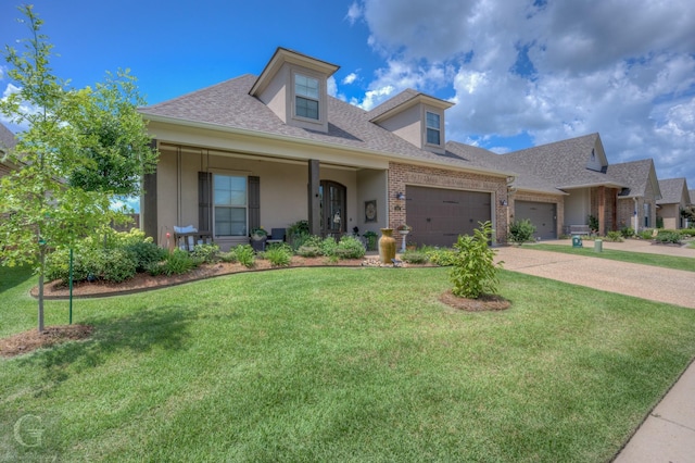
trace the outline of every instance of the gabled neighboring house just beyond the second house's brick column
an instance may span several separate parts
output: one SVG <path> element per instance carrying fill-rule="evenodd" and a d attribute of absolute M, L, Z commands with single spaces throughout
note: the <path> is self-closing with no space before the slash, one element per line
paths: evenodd
<path fill-rule="evenodd" d="M 656 204 L 661 199 L 661 190 L 654 160 L 612 164 L 607 174 L 626 185 L 618 193 L 618 228 L 631 227 L 639 233 L 656 227 Z"/>

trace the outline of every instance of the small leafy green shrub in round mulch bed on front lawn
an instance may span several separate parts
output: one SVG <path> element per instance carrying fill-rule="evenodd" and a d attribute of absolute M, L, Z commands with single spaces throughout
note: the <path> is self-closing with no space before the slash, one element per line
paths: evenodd
<path fill-rule="evenodd" d="M 495 251 L 488 246 L 492 237 L 490 221 L 481 223 L 473 230 L 473 236 L 462 235 L 454 245 L 454 263 L 450 279 L 454 284 L 452 292 L 462 298 L 478 299 L 483 293 L 494 295 L 497 291 L 497 268 Z"/>

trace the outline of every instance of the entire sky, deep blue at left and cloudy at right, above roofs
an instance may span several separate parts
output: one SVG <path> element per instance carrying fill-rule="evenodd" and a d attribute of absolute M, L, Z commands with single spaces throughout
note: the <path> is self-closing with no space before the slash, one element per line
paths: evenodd
<path fill-rule="evenodd" d="M 152 104 L 258 75 L 285 47 L 341 66 L 331 95 L 365 110 L 406 88 L 456 103 L 447 140 L 506 153 L 599 133 L 609 164 L 652 158 L 695 189 L 693 0 L 31 3 L 76 88 L 129 68 Z M 28 37 L 18 4 L 0 0 L 0 45 Z"/>

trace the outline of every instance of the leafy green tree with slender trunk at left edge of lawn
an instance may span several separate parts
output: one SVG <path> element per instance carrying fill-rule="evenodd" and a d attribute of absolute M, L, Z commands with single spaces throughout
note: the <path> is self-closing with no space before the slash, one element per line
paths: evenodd
<path fill-rule="evenodd" d="M 112 199 L 138 192 L 134 180 L 153 170 L 156 152 L 137 116 L 132 78 L 119 73 L 96 90 L 68 88 L 52 74 L 43 22 L 31 5 L 20 11 L 31 36 L 23 53 L 5 46 L 8 76 L 17 90 L 0 100 L 0 113 L 28 129 L 8 155 L 20 168 L 0 184 L 0 263 L 36 266 L 42 331 L 47 253 L 116 217 Z"/>

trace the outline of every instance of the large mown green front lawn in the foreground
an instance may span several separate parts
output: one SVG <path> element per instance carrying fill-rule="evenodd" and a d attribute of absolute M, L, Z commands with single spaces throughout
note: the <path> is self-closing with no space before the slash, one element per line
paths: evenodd
<path fill-rule="evenodd" d="M 0 455 L 605 462 L 695 356 L 692 310 L 502 271 L 513 308 L 463 313 L 438 301 L 446 275 L 294 268 L 76 300 L 90 340 L 0 360 Z M 35 326 L 34 283 L 0 268 L 2 336 Z M 13 437 L 28 415 L 36 448 Z"/>

